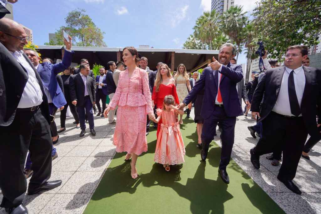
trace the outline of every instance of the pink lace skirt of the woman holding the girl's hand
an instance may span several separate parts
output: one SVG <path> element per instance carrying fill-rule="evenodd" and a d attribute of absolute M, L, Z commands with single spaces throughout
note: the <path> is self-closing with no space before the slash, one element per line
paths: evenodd
<path fill-rule="evenodd" d="M 118 106 L 113 144 L 116 152 L 147 152 L 146 106 Z"/>

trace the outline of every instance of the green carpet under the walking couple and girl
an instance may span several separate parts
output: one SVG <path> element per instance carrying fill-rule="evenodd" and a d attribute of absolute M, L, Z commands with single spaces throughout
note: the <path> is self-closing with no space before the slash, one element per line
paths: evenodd
<path fill-rule="evenodd" d="M 116 153 L 84 213 L 284 213 L 233 160 L 225 184 L 218 173 L 221 148 L 212 142 L 208 159 L 201 161 L 196 124 L 183 121 L 184 164 L 166 172 L 153 161 L 156 129 L 151 126 L 148 152 L 137 160 L 138 178 L 130 177 L 126 153 Z"/>

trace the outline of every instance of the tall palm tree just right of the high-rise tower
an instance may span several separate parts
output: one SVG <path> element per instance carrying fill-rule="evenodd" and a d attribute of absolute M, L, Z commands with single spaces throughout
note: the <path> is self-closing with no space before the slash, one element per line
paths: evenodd
<path fill-rule="evenodd" d="M 220 29 L 230 37 L 230 39 L 237 46 L 237 56 L 239 57 L 241 51 L 241 45 L 244 42 L 245 36 L 245 26 L 248 23 L 248 17 L 245 15 L 247 12 L 242 11 L 243 6 L 230 7 L 221 16 L 221 26 Z"/>

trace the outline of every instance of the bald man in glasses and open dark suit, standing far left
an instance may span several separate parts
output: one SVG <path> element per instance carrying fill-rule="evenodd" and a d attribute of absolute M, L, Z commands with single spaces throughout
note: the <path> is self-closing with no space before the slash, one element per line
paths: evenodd
<path fill-rule="evenodd" d="M 37 70 L 22 52 L 27 39 L 19 23 L 0 20 L 0 206 L 9 213 L 28 213 L 22 204 L 28 149 L 34 171 L 28 194 L 61 185 L 61 180 L 47 181 L 52 161 L 48 100 Z"/>

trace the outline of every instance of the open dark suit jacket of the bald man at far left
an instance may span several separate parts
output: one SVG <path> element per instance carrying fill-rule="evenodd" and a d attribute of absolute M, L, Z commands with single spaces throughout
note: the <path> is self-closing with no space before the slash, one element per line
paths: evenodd
<path fill-rule="evenodd" d="M 23 54 L 23 56 L 30 66 L 34 68 L 27 55 Z M 50 124 L 47 96 L 43 91 L 41 78 L 35 68 L 34 72 L 43 95 L 43 102 L 40 104 L 41 113 Z M 27 71 L 0 43 L 0 126 L 9 126 L 12 123 L 28 78 Z"/>

